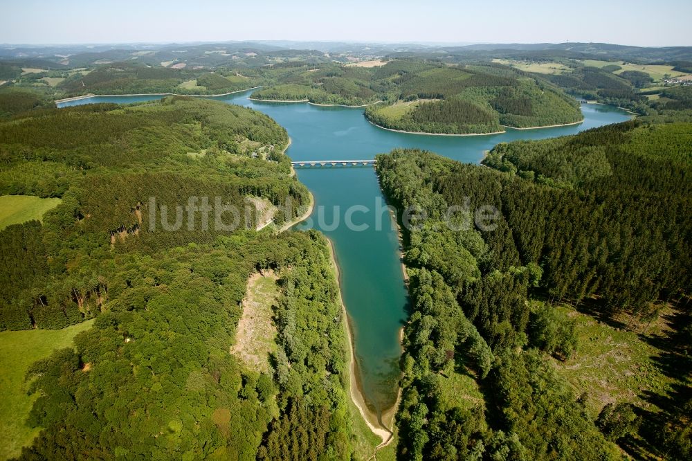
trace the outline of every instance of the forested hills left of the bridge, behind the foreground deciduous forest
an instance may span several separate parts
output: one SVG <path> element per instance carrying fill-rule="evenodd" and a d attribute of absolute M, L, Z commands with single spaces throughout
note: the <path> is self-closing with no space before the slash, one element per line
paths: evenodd
<path fill-rule="evenodd" d="M 277 223 L 293 219 L 309 197 L 289 177 L 285 130 L 263 114 L 220 102 L 171 97 L 132 107 L 36 109 L 0 124 L 0 139 L 3 195 L 62 197 L 42 227 L 0 232 L 3 329 L 59 328 L 98 314 L 107 284 L 104 258 L 208 243 L 226 233 L 188 228 L 193 222 L 156 232 L 152 221 L 161 213 L 152 216 L 149 197 L 170 210 L 190 196 L 208 197 L 212 205 L 219 197 L 239 210 L 246 197 L 275 206 L 293 200 L 291 215 L 280 208 Z M 255 219 L 250 207 L 242 225 L 253 227 Z M 29 253 L 36 265 L 24 256 Z"/>

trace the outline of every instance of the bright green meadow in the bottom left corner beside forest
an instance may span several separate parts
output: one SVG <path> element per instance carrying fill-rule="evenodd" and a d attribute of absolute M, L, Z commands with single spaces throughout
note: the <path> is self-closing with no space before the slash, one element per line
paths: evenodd
<path fill-rule="evenodd" d="M 0 460 L 19 455 L 21 447 L 30 444 L 39 433 L 39 429 L 24 424 L 35 399 L 26 395 L 26 370 L 53 350 L 71 347 L 75 335 L 89 329 L 92 323 L 93 320 L 87 320 L 64 329 L 0 332 Z"/>

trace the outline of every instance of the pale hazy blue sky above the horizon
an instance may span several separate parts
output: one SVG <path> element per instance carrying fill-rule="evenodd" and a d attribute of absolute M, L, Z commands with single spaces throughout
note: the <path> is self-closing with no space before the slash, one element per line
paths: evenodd
<path fill-rule="evenodd" d="M 566 6 L 566 5 L 569 6 Z M 289 39 L 692 45 L 690 0 L 0 0 L 0 43 Z"/>

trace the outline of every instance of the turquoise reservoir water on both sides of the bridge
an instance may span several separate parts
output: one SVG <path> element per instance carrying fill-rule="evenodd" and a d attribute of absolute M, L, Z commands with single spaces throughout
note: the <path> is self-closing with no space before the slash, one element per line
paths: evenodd
<path fill-rule="evenodd" d="M 65 102 L 140 102 L 161 96 L 109 96 Z M 484 150 L 500 142 L 575 134 L 584 129 L 628 120 L 621 109 L 582 105 L 580 125 L 545 129 L 507 129 L 491 136 L 427 136 L 389 132 L 371 125 L 363 109 L 318 107 L 307 103 L 256 102 L 248 93 L 213 99 L 262 111 L 286 128 L 293 141 L 286 152 L 293 160 L 372 159 L 395 147 L 417 147 L 466 163 L 480 161 Z M 352 319 L 358 375 L 368 406 L 376 413 L 390 408 L 399 379 L 399 329 L 406 320 L 397 233 L 372 168 L 299 168 L 298 177 L 313 193 L 316 207 L 302 226 L 321 230 L 334 242 L 341 269 L 341 291 Z M 379 213 L 375 210 L 380 206 Z M 349 213 L 353 206 L 365 206 Z M 320 219 L 320 214 L 322 219 Z M 347 215 L 354 226 L 345 225 Z M 335 222 L 335 217 L 338 222 Z M 379 225 L 378 225 L 379 224 Z"/>

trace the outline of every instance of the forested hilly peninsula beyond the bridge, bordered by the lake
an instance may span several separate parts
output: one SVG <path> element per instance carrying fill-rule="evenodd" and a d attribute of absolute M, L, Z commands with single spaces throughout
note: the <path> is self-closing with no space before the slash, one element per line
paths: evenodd
<path fill-rule="evenodd" d="M 535 127 L 581 120 L 576 102 L 549 82 L 512 69 L 449 67 L 392 60 L 374 67 L 273 66 L 253 71 L 266 87 L 254 99 L 379 105 L 365 116 L 410 132 L 487 133 L 500 125 Z"/>

